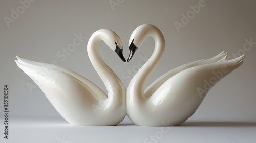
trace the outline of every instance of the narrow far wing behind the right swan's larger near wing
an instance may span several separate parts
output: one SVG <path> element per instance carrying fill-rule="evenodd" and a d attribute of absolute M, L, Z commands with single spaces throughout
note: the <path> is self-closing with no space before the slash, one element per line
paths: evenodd
<path fill-rule="evenodd" d="M 194 61 L 194 62 L 190 62 L 184 65 L 178 66 L 168 71 L 166 74 L 162 75 L 156 81 L 154 81 L 150 86 L 148 86 L 147 89 L 144 91 L 145 98 L 150 97 L 167 79 L 173 77 L 174 75 L 176 75 L 182 70 L 188 69 L 190 67 L 198 66 L 198 65 L 218 63 L 226 60 L 227 60 L 227 52 L 222 51 L 220 54 L 216 55 L 215 57 L 198 60 L 198 61 Z"/>

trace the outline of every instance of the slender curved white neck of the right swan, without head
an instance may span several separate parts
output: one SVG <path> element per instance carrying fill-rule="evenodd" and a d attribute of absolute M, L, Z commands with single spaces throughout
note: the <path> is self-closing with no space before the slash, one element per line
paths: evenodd
<path fill-rule="evenodd" d="M 160 32 L 159 29 L 149 30 L 146 35 L 146 38 L 147 37 L 153 37 L 155 41 L 154 52 L 150 57 L 150 59 L 148 59 L 148 61 L 140 68 L 140 70 L 137 72 L 137 74 L 133 77 L 133 79 L 130 82 L 134 93 L 136 92 L 136 94 L 139 94 L 137 98 L 141 100 L 145 99 L 144 98 L 145 83 L 148 77 L 150 77 L 150 75 L 153 73 L 153 71 L 157 67 L 165 49 L 165 40 L 164 40 L 163 34 Z M 134 96 L 135 94 L 132 94 L 132 95 Z"/>

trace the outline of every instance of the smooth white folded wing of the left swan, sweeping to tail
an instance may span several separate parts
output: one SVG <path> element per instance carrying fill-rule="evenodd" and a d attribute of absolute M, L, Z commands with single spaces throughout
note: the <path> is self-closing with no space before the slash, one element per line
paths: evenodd
<path fill-rule="evenodd" d="M 95 120 L 95 106 L 103 107 L 107 98 L 95 84 L 63 67 L 48 69 L 47 73 L 45 68 L 51 67 L 49 64 L 41 65 L 21 57 L 17 59 L 15 62 L 20 69 L 40 87 L 54 108 L 68 122 L 74 122 L 74 116 L 77 117 L 75 120 Z"/>

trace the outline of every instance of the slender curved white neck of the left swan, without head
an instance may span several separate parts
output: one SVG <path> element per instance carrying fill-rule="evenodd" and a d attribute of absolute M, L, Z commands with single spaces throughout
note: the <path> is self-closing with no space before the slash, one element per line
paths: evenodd
<path fill-rule="evenodd" d="M 101 40 L 104 41 L 103 38 L 105 37 L 103 37 L 102 35 L 92 35 L 92 37 L 88 41 L 87 51 L 93 67 L 97 71 L 108 91 L 108 98 L 106 100 L 109 100 L 110 103 L 112 103 L 113 100 L 120 101 L 120 98 L 123 98 L 122 96 L 125 95 L 124 92 L 126 91 L 121 80 L 114 73 L 114 71 L 105 64 L 105 62 L 99 55 L 98 43 Z M 114 96 L 118 96 L 119 98 L 113 98 Z"/>

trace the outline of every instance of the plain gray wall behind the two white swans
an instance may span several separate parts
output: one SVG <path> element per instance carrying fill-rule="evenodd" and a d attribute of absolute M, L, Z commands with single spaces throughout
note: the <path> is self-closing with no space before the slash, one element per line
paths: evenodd
<path fill-rule="evenodd" d="M 116 6 L 111 6 L 115 2 Z M 181 22 L 182 14 L 200 1 L 35 1 L 19 17 L 9 23 L 12 9 L 22 6 L 19 1 L 0 1 L 0 91 L 9 85 L 10 117 L 61 118 L 37 87 L 27 87 L 33 81 L 20 70 L 14 59 L 24 58 L 51 63 L 56 60 L 87 77 L 106 91 L 87 55 L 87 42 L 93 32 L 108 28 L 115 31 L 124 45 L 124 56 L 129 55 L 128 40 L 132 31 L 142 23 L 152 23 L 165 36 L 165 53 L 147 86 L 170 69 L 179 65 L 210 58 L 221 51 L 245 53 L 244 64 L 221 80 L 207 94 L 199 109 L 189 120 L 256 121 L 256 44 L 249 51 L 243 50 L 245 39 L 256 41 L 255 1 L 205 1 L 198 14 L 176 29 L 174 22 Z M 20 9 L 22 10 L 22 9 Z M 63 61 L 57 56 L 61 49 L 76 38 L 87 37 Z M 130 62 L 123 63 L 115 52 L 100 43 L 103 60 L 116 72 L 125 87 L 130 77 L 127 70 L 136 73 L 142 57 L 150 57 L 154 41 L 148 38 Z M 247 45 L 248 46 L 248 45 Z M 63 54 L 63 53 L 62 53 Z M 144 62 L 142 62 L 144 63 Z M 3 111 L 3 96 L 0 98 Z M 1 116 L 2 118 L 3 116 Z"/>

